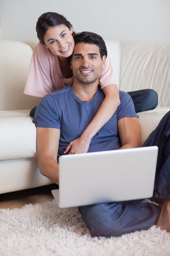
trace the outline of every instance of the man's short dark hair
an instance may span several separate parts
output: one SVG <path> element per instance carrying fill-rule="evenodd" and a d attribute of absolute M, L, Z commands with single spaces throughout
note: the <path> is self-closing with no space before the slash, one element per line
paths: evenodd
<path fill-rule="evenodd" d="M 84 31 L 81 33 L 77 33 L 73 36 L 75 45 L 77 43 L 89 43 L 92 45 L 97 45 L 99 47 L 99 52 L 101 58 L 103 58 L 104 55 L 107 57 L 107 49 L 106 44 L 102 38 L 102 36 L 99 36 L 93 32 Z"/>

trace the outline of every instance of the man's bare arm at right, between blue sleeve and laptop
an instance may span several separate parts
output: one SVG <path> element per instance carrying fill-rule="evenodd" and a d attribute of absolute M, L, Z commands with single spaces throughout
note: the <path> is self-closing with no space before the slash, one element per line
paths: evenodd
<path fill-rule="evenodd" d="M 137 117 L 124 117 L 118 121 L 121 148 L 141 147 L 141 130 Z"/>

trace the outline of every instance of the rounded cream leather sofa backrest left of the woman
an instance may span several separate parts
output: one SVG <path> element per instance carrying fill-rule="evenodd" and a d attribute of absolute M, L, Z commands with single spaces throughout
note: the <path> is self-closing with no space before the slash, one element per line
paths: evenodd
<path fill-rule="evenodd" d="M 0 110 L 37 106 L 39 98 L 23 94 L 32 53 L 25 43 L 0 40 Z"/>

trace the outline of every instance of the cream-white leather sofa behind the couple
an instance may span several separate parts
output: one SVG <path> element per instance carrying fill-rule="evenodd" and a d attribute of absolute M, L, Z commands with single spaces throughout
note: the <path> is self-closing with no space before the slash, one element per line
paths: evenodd
<path fill-rule="evenodd" d="M 39 172 L 36 128 L 29 111 L 40 99 L 23 94 L 38 41 L 0 40 L 0 193 L 51 184 Z M 170 110 L 170 43 L 106 41 L 120 90 L 151 88 L 155 110 L 138 113 L 142 142 Z"/>

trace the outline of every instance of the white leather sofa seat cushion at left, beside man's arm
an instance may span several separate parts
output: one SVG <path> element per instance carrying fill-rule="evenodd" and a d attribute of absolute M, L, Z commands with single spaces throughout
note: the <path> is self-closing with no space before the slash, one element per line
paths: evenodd
<path fill-rule="evenodd" d="M 0 160 L 36 157 L 36 127 L 29 111 L 0 111 Z"/>

